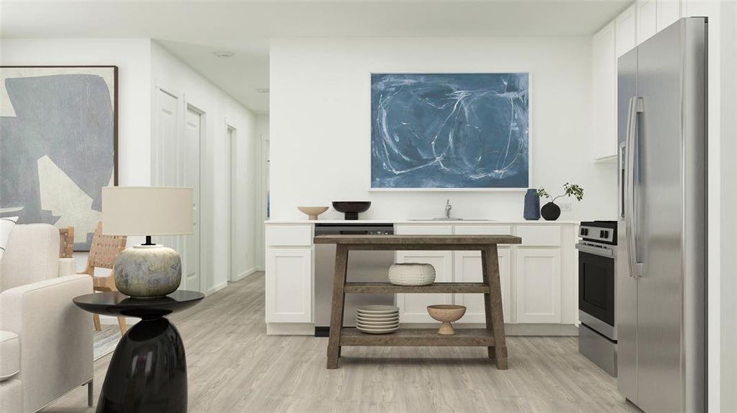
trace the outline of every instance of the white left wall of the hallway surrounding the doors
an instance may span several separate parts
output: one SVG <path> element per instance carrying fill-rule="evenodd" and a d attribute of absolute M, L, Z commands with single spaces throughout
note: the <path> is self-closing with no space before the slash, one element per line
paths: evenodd
<path fill-rule="evenodd" d="M 181 96 L 185 105 L 194 105 L 205 112 L 206 141 L 200 168 L 200 248 L 204 261 L 200 268 L 201 275 L 206 277 L 207 291 L 214 292 L 226 286 L 229 279 L 241 278 L 256 268 L 256 116 L 156 42 L 151 45 L 151 71 L 152 95 L 155 88 L 162 88 Z M 156 119 L 153 110 L 148 115 Z M 232 277 L 228 275 L 226 124 L 237 130 L 236 258 Z M 151 127 L 148 133 L 156 130 L 155 124 Z M 153 159 L 153 163 L 156 168 L 157 160 Z"/>

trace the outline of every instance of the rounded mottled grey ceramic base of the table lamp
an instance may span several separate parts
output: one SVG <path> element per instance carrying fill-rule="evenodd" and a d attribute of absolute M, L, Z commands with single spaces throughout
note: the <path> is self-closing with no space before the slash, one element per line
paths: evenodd
<path fill-rule="evenodd" d="M 130 297 L 162 297 L 175 292 L 182 278 L 179 254 L 162 245 L 136 245 L 115 259 L 115 286 Z"/>

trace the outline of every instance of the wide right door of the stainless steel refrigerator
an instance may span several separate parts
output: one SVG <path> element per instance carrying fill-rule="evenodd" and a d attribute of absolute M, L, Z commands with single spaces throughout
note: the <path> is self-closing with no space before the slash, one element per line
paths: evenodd
<path fill-rule="evenodd" d="M 681 24 L 638 47 L 638 406 L 682 412 Z"/>

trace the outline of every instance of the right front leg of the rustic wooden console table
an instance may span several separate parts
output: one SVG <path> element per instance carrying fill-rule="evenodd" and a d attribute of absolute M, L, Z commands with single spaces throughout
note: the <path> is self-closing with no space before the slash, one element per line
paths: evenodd
<path fill-rule="evenodd" d="M 489 358 L 495 359 L 497 369 L 507 368 L 506 336 L 504 334 L 504 314 L 502 307 L 502 288 L 499 275 L 499 255 L 497 246 L 490 245 L 481 251 L 483 282 L 489 285 L 489 294 L 483 294 L 486 329 L 494 333 L 495 347 L 489 347 Z"/>

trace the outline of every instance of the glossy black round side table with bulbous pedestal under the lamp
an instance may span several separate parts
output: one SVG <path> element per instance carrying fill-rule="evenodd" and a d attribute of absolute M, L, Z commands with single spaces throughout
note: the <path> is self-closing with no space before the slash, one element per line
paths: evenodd
<path fill-rule="evenodd" d="M 132 298 L 120 292 L 74 297 L 85 311 L 141 319 L 115 348 L 97 402 L 97 413 L 179 413 L 187 409 L 186 359 L 181 336 L 164 316 L 199 303 L 205 294 L 176 291 Z"/>

